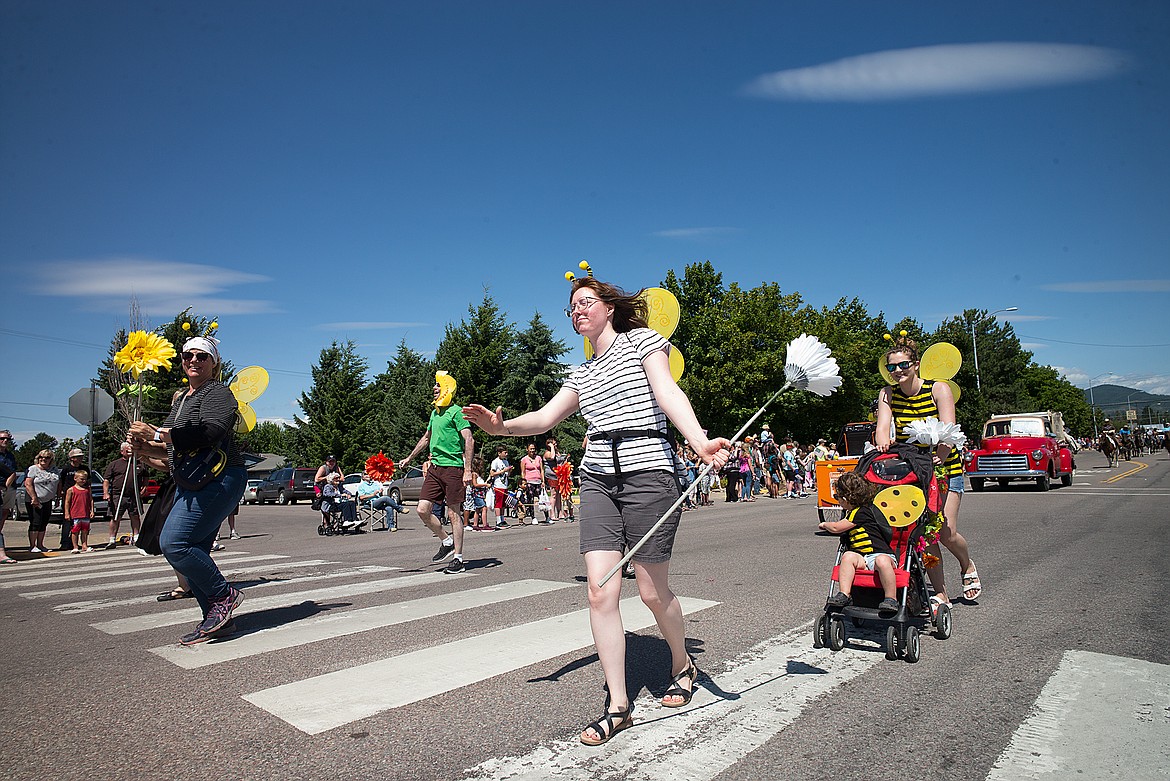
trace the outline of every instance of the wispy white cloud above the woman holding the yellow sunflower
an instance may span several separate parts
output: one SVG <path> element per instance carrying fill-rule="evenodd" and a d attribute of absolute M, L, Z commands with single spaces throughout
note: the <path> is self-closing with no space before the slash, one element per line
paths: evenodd
<path fill-rule="evenodd" d="M 124 313 L 130 297 L 149 316 L 173 316 L 188 306 L 215 316 L 276 311 L 270 300 L 223 295 L 268 277 L 218 265 L 104 257 L 46 263 L 33 274 L 34 292 L 76 298 L 84 309 L 101 312 Z"/>

